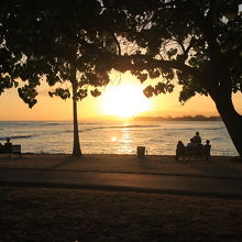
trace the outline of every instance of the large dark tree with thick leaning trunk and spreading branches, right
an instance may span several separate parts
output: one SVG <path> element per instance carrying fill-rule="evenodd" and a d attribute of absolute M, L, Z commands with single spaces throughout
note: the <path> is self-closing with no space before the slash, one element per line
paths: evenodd
<path fill-rule="evenodd" d="M 210 96 L 242 156 L 242 116 L 232 102 L 232 92 L 242 90 L 241 1 L 102 2 L 113 26 L 119 21 L 122 25 L 121 31 L 116 26 L 122 51 L 119 57 L 110 56 L 113 66 L 132 70 L 142 82 L 156 80 L 145 88 L 147 97 L 172 92 L 174 85 L 183 87 L 182 103 L 196 94 Z M 124 43 L 136 50 L 125 50 Z"/>

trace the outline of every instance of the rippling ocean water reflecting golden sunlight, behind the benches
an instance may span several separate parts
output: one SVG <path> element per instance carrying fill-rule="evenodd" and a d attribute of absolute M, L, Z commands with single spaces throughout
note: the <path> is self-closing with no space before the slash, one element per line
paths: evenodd
<path fill-rule="evenodd" d="M 145 146 L 150 155 L 174 155 L 178 140 L 185 144 L 199 131 L 202 143 L 211 142 L 212 155 L 237 156 L 228 131 L 221 121 L 130 121 L 81 122 L 80 145 L 84 154 L 135 154 Z M 0 143 L 10 138 L 22 152 L 72 153 L 72 122 L 0 122 Z"/>

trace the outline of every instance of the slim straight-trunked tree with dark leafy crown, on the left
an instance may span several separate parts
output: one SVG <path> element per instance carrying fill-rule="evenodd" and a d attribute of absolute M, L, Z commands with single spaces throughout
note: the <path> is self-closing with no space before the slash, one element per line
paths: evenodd
<path fill-rule="evenodd" d="M 20 85 L 19 96 L 33 107 L 36 86 L 44 79 L 53 87 L 58 84 L 50 95 L 73 99 L 74 156 L 81 155 L 77 101 L 87 97 L 90 86 L 95 87 L 91 95 L 98 96 L 97 88 L 109 82 L 109 69 L 97 55 L 99 48 L 111 48 L 96 28 L 100 11 L 96 0 L 6 1 L 0 10 L 0 50 L 6 53 L 1 58 L 6 82 L 1 81 L 0 90 Z"/>

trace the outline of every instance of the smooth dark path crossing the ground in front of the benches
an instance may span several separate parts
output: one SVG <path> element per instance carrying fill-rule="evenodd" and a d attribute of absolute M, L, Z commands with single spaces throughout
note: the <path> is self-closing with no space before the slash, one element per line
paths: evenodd
<path fill-rule="evenodd" d="M 240 178 L 1 168 L 0 183 L 242 198 Z"/>

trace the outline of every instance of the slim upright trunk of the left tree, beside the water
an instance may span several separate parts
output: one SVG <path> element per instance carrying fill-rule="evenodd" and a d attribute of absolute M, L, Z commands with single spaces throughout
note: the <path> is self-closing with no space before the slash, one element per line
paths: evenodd
<path fill-rule="evenodd" d="M 74 141 L 73 141 L 73 156 L 80 157 L 80 142 L 79 142 L 79 130 L 78 130 L 78 118 L 77 118 L 77 82 L 73 81 L 73 125 L 74 125 Z"/>

